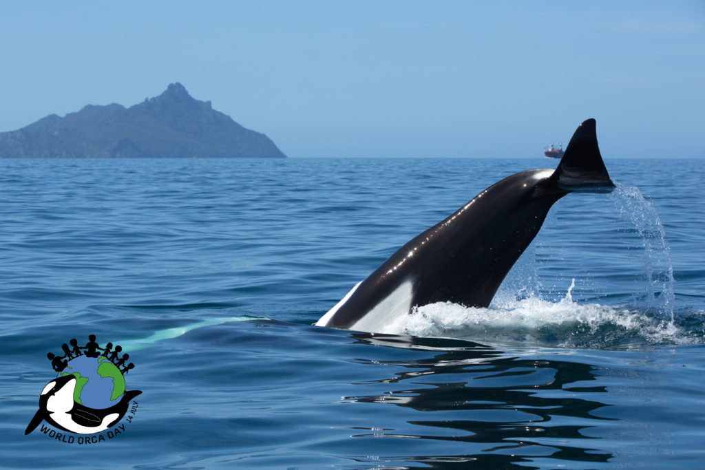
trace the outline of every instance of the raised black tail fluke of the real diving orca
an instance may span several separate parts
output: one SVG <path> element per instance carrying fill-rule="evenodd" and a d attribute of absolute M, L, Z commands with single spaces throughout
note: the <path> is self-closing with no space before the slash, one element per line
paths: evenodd
<path fill-rule="evenodd" d="M 597 147 L 594 119 L 585 120 L 575 130 L 551 179 L 566 191 L 611 192 L 615 189 Z"/>

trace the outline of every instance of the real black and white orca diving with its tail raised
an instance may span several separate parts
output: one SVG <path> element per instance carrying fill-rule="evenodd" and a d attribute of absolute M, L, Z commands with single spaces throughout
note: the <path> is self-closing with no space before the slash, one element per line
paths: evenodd
<path fill-rule="evenodd" d="M 489 307 L 553 203 L 570 192 L 614 187 L 597 145 L 595 120 L 585 120 L 555 171 L 522 171 L 477 194 L 407 242 L 316 325 L 379 333 L 414 307 L 435 302 Z"/>

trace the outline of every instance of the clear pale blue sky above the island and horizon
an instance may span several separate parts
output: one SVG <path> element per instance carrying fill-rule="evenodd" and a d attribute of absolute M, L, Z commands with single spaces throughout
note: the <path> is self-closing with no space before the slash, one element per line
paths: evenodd
<path fill-rule="evenodd" d="M 0 131 L 181 82 L 292 157 L 705 157 L 704 1 L 0 0 Z"/>

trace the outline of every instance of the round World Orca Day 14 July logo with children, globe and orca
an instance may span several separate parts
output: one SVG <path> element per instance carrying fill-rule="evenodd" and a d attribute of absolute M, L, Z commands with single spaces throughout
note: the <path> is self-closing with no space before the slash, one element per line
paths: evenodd
<path fill-rule="evenodd" d="M 89 335 L 85 346 L 75 339 L 69 343 L 61 346 L 63 355 L 47 354 L 56 378 L 39 395 L 39 409 L 25 435 L 39 426 L 47 437 L 68 444 L 112 439 L 125 432 L 125 423 L 116 426 L 123 416 L 129 411 L 126 422 L 131 422 L 137 411 L 133 399 L 142 392 L 125 388 L 125 375 L 135 364 L 128 362 L 129 354 L 121 354 L 120 346 L 109 342 L 100 347 L 95 335 Z"/>

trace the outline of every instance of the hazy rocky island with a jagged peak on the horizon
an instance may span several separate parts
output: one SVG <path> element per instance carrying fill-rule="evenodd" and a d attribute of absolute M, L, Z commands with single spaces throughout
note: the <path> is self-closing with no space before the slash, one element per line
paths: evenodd
<path fill-rule="evenodd" d="M 193 99 L 180 83 L 125 108 L 87 105 L 0 132 L 0 158 L 286 158 L 264 134 Z"/>

